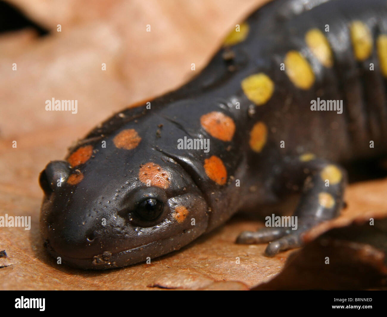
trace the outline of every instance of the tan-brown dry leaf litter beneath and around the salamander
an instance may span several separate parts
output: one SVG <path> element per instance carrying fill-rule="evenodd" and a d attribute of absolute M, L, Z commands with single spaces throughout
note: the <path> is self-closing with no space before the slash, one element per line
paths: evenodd
<path fill-rule="evenodd" d="M 60 7 L 42 0 L 11 2 L 51 33 L 37 38 L 33 31 L 22 30 L 0 36 L 0 215 L 31 216 L 32 222 L 29 231 L 0 228 L 0 250 L 8 255 L 0 258 L 0 289 L 247 289 L 271 281 L 274 284 L 265 285 L 301 288 L 311 284 L 297 280 L 300 268 L 308 267 L 309 281 L 320 268 L 307 255 L 299 255 L 304 250 L 319 252 L 320 240 L 313 239 L 332 227 L 350 225 L 365 212 L 370 213 L 366 217 L 377 213 L 385 217 L 387 181 L 350 186 L 349 207 L 337 220 L 308 233 L 305 238 L 312 242 L 297 253 L 291 262 L 293 269 L 286 269 L 286 279 L 279 272 L 293 251 L 267 258 L 263 256 L 265 245 L 236 245 L 241 231 L 263 226 L 241 217 L 149 265 L 94 272 L 56 264 L 43 249 L 39 235 L 43 196 L 39 172 L 49 160 L 63 158 L 73 141 L 108 115 L 194 76 L 191 63 L 196 63 L 199 72 L 228 30 L 263 1 L 165 0 L 160 4 L 156 0 L 116 0 L 96 4 L 67 0 Z M 60 33 L 58 23 L 62 24 Z M 152 27 L 149 34 L 146 24 Z M 17 63 L 17 71 L 12 71 L 12 63 Z M 106 63 L 105 72 L 101 63 Z M 78 100 L 79 112 L 45 111 L 45 100 L 53 97 Z M 17 148 L 12 148 L 14 140 Z M 346 250 L 348 259 L 354 258 L 372 281 L 380 282 L 384 265 L 378 246 L 339 239 L 337 249 L 336 240 L 328 240 L 333 257 Z M 349 285 L 345 283 L 352 277 L 346 278 L 341 286 Z"/>

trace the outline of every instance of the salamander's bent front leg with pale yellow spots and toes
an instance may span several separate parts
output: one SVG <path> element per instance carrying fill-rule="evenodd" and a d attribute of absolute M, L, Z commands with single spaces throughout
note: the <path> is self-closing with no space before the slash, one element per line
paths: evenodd
<path fill-rule="evenodd" d="M 347 183 L 346 172 L 326 160 L 315 159 L 312 154 L 287 159 L 279 181 L 286 188 L 303 188 L 293 219 L 288 224 L 271 226 L 259 231 L 243 231 L 236 243 L 267 243 L 266 256 L 302 245 L 302 234 L 320 222 L 337 217 L 343 206 Z M 285 218 L 281 218 L 285 219 Z M 292 224 L 292 226 L 290 226 Z M 273 224 L 272 224 L 273 225 Z"/>

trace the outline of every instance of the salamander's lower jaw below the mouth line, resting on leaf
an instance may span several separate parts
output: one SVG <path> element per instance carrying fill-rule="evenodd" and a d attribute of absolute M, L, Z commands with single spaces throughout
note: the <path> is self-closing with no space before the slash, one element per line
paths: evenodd
<path fill-rule="evenodd" d="M 195 227 L 182 233 L 174 234 L 168 238 L 153 241 L 146 245 L 140 245 L 125 251 L 116 253 L 104 251 L 92 258 L 74 258 L 67 255 L 61 255 L 51 247 L 50 241 L 48 240 L 45 241 L 44 246 L 54 258 L 60 257 L 63 264 L 80 269 L 104 270 L 137 264 L 149 260 L 149 258 L 153 259 L 172 251 L 179 250 L 202 233 L 202 228 Z M 179 240 L 177 245 L 175 244 L 176 240 Z"/>

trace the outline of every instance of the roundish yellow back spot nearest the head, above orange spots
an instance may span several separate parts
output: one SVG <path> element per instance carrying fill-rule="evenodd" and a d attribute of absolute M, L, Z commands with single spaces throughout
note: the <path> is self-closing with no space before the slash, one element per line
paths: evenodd
<path fill-rule="evenodd" d="M 243 79 L 241 87 L 247 98 L 257 106 L 265 104 L 274 91 L 273 81 L 262 72 Z"/>

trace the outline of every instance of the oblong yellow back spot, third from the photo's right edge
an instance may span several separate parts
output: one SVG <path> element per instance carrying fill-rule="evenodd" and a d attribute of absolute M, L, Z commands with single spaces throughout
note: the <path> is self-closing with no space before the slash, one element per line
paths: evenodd
<path fill-rule="evenodd" d="M 321 64 L 325 67 L 332 67 L 332 50 L 324 33 L 319 29 L 311 29 L 305 34 L 305 42 Z"/>

